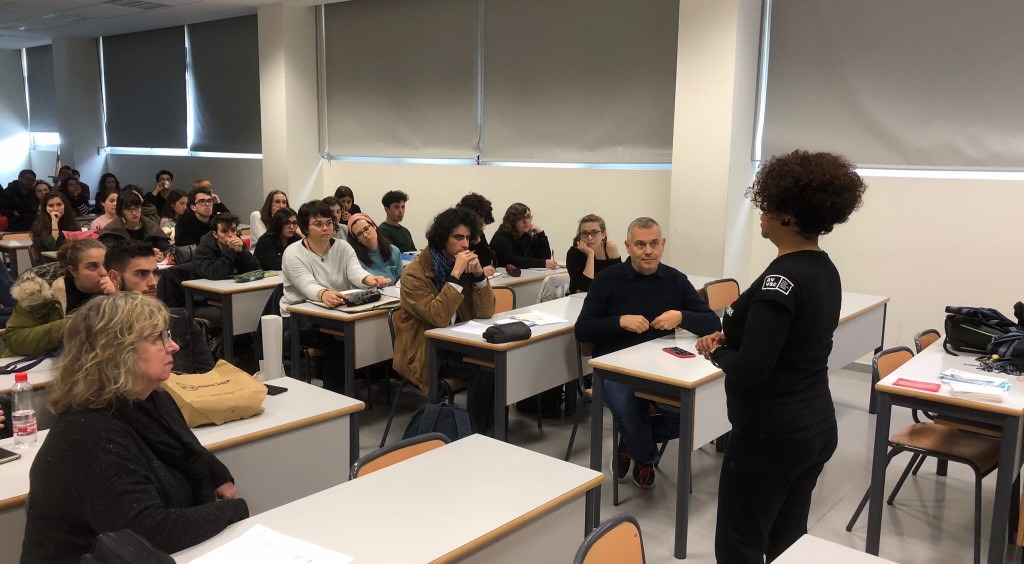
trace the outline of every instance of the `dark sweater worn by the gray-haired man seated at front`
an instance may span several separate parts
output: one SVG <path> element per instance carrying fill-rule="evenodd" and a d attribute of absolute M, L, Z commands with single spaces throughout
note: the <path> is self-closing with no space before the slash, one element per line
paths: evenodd
<path fill-rule="evenodd" d="M 672 335 L 672 330 L 650 328 L 637 334 L 618 327 L 623 315 L 643 315 L 652 321 L 670 310 L 681 311 L 679 327 L 697 336 L 722 328 L 686 274 L 660 264 L 653 274 L 645 275 L 627 260 L 601 270 L 594 278 L 575 323 L 577 340 L 593 344 L 594 356 L 598 356 Z"/>

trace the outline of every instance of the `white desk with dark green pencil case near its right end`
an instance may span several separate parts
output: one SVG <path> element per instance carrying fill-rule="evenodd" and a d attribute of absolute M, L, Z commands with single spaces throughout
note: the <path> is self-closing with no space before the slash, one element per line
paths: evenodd
<path fill-rule="evenodd" d="M 242 284 L 237 284 L 230 278 L 226 280 L 199 278 L 181 283 L 185 291 L 185 310 L 189 315 L 195 313 L 193 300 L 196 296 L 203 296 L 220 304 L 224 360 L 234 362 L 232 337 L 256 331 L 270 294 L 284 284 L 281 271 L 274 273 L 275 276 Z"/>

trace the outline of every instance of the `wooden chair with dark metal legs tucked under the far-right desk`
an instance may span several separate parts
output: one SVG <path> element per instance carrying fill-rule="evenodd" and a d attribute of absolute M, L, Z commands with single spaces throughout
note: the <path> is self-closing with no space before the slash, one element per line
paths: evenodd
<path fill-rule="evenodd" d="M 907 347 L 893 347 L 879 352 L 871 360 L 871 388 L 873 383 L 886 378 L 893 371 L 903 365 L 913 357 L 913 352 Z M 912 423 L 900 429 L 889 439 L 889 452 L 886 455 L 886 467 L 900 452 L 910 452 L 910 462 L 900 475 L 886 503 L 893 505 L 903 482 L 911 471 L 916 474 L 920 462 L 928 457 L 940 461 L 954 462 L 967 465 L 975 476 L 974 486 L 974 561 L 981 561 L 981 482 L 998 466 L 999 441 L 992 437 L 961 431 L 948 425 L 938 423 Z M 853 525 L 867 505 L 871 488 L 868 486 L 864 496 L 857 505 L 857 510 L 846 525 L 847 531 L 853 530 Z"/>

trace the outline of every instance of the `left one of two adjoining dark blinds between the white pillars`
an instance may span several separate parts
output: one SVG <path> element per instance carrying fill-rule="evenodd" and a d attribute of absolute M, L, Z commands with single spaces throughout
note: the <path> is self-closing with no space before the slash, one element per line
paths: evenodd
<path fill-rule="evenodd" d="M 183 27 L 103 38 L 106 143 L 185 148 Z"/>

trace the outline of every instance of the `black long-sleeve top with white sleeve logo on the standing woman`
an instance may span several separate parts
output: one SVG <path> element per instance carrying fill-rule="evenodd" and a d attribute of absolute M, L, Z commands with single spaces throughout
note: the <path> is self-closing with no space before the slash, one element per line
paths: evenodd
<path fill-rule="evenodd" d="M 740 294 L 726 312 L 725 345 L 712 354 L 733 431 L 784 437 L 835 425 L 828 355 L 842 301 L 822 251 L 776 258 Z"/>

